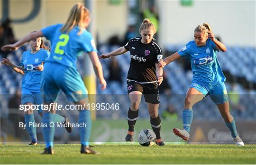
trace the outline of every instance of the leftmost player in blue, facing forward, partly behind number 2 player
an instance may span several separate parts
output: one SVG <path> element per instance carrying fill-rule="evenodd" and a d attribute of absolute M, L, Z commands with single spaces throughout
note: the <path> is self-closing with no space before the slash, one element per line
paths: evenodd
<path fill-rule="evenodd" d="M 42 105 L 43 98 L 41 95 L 41 75 L 44 70 L 43 63 L 46 58 L 50 56 L 50 52 L 46 50 L 46 46 L 42 41 L 41 37 L 34 38 L 29 41 L 30 50 L 23 52 L 21 59 L 21 66 L 17 66 L 12 63 L 9 58 L 2 58 L 1 63 L 11 67 L 15 72 L 19 74 L 24 74 L 21 83 L 21 103 L 27 106 L 29 109 L 25 111 L 25 124 L 26 129 L 31 137 L 31 143 L 29 145 L 37 145 L 37 130 L 34 127 L 35 119 L 33 115 L 32 105 Z M 38 114 L 42 117 L 43 110 L 37 109 Z M 54 122 L 66 122 L 66 116 L 55 115 Z M 30 124 L 29 124 L 30 123 Z"/>

